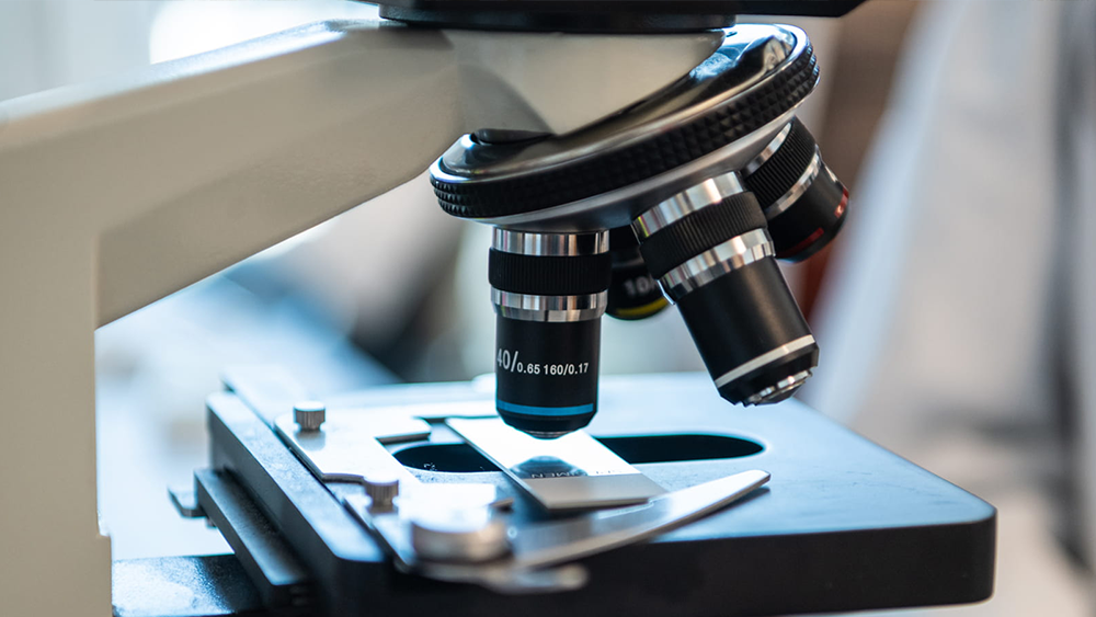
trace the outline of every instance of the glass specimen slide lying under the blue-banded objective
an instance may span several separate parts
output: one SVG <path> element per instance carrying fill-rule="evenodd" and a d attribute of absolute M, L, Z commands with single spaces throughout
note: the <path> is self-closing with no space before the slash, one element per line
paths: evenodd
<path fill-rule="evenodd" d="M 446 424 L 550 511 L 633 504 L 665 492 L 583 431 L 548 441 L 496 418 Z"/>

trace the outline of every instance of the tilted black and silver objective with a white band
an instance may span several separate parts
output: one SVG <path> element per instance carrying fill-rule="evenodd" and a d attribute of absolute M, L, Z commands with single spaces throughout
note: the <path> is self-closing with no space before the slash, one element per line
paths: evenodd
<path fill-rule="evenodd" d="M 677 304 L 720 396 L 734 403 L 784 400 L 818 365 L 818 345 L 765 225 L 733 172 L 632 222 L 651 275 Z"/>

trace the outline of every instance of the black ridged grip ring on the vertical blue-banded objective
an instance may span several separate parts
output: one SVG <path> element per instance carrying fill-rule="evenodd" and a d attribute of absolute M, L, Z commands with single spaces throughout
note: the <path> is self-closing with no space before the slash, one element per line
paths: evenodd
<path fill-rule="evenodd" d="M 491 249 L 488 279 L 502 292 L 536 296 L 600 294 L 609 288 L 608 253 L 581 256 L 533 256 Z"/>

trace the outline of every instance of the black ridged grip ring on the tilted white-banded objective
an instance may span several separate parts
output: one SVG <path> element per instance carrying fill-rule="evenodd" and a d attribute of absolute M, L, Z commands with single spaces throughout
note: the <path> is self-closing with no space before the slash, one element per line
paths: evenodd
<path fill-rule="evenodd" d="M 662 278 L 708 249 L 763 227 L 765 214 L 753 193 L 737 193 L 655 231 L 639 250 L 651 276 Z"/>

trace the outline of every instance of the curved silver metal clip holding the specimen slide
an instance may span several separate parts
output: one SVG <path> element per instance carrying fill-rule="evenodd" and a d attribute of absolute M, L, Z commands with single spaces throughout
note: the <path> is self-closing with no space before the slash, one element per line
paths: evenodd
<path fill-rule="evenodd" d="M 369 516 L 362 504 L 352 499 L 347 499 L 347 507 L 379 536 L 401 571 L 441 581 L 478 584 L 499 593 L 549 593 L 571 591 L 585 584 L 585 570 L 567 562 L 686 525 L 750 494 L 768 479 L 765 471 L 743 471 L 655 496 L 642 505 L 513 527 L 510 555 L 486 563 L 421 560 L 408 537 L 407 525 L 398 516 Z"/>

